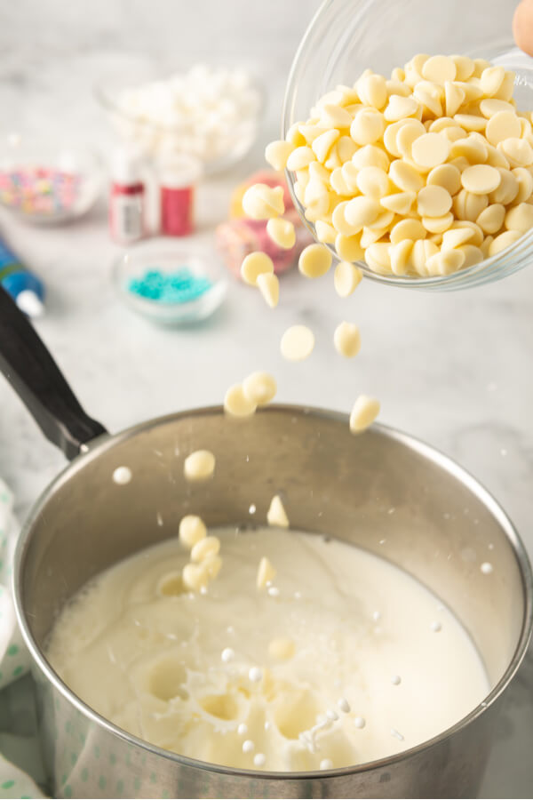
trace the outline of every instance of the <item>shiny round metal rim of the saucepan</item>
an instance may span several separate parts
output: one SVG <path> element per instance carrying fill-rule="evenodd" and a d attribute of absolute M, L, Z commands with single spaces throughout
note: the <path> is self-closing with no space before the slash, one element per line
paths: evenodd
<path fill-rule="evenodd" d="M 306 416 L 314 415 L 319 419 L 333 420 L 338 423 L 342 423 L 343 425 L 346 425 L 347 429 L 348 417 L 345 413 L 330 411 L 323 408 L 297 404 L 272 404 L 265 409 L 261 409 L 259 413 L 264 414 L 280 412 L 290 413 L 292 416 L 298 414 Z M 401 753 L 397 753 L 394 756 L 386 756 L 385 758 L 369 761 L 364 764 L 354 764 L 353 766 L 340 767 L 338 769 L 320 771 L 314 770 L 307 772 L 270 772 L 263 770 L 247 770 L 228 767 L 222 764 L 211 764 L 211 762 L 200 761 L 199 759 L 189 758 L 188 756 L 180 756 L 178 753 L 173 753 L 171 750 L 159 748 L 156 745 L 150 744 L 150 742 L 139 739 L 139 737 L 134 736 L 129 732 L 123 731 L 122 728 L 119 728 L 115 724 L 109 722 L 109 720 L 107 720 L 104 716 L 99 715 L 96 711 L 86 705 L 83 700 L 80 700 L 78 697 L 76 697 L 76 694 L 74 694 L 74 692 L 68 688 L 67 684 L 63 683 L 60 677 L 52 669 L 51 665 L 45 659 L 41 648 L 38 644 L 36 644 L 36 640 L 34 639 L 28 627 L 22 596 L 22 578 L 25 565 L 25 556 L 28 552 L 36 518 L 45 507 L 48 499 L 62 483 L 68 480 L 68 478 L 73 474 L 76 474 L 78 468 L 82 468 L 88 460 L 98 459 L 101 453 L 111 449 L 115 446 L 115 444 L 137 436 L 139 433 L 144 433 L 151 428 L 161 427 L 176 420 L 183 420 L 187 417 L 190 418 L 223 414 L 224 411 L 219 405 L 205 406 L 202 408 L 176 412 L 162 417 L 156 417 L 152 420 L 140 422 L 139 424 L 134 425 L 131 428 L 126 428 L 115 435 L 105 434 L 103 436 L 99 436 L 90 444 L 86 445 L 84 447 L 85 452 L 82 452 L 76 457 L 75 460 L 68 464 L 68 466 L 60 472 L 60 475 L 57 476 L 44 490 L 44 492 L 36 501 L 36 504 L 32 508 L 25 524 L 23 525 L 22 531 L 20 532 L 20 538 L 15 550 L 12 577 L 17 618 L 22 635 L 34 661 L 34 665 L 39 668 L 44 677 L 57 691 L 62 694 L 66 700 L 69 701 L 72 706 L 74 706 L 84 716 L 88 717 L 91 722 L 98 724 L 107 732 L 114 734 L 116 737 L 124 740 L 129 745 L 136 746 L 137 748 L 141 748 L 143 751 L 147 751 L 154 756 L 159 756 L 165 760 L 173 761 L 182 766 L 207 772 L 218 772 L 220 774 L 226 774 L 232 777 L 254 778 L 266 781 L 308 780 L 309 778 L 323 780 L 327 777 L 339 778 L 356 773 L 385 769 L 393 764 L 398 764 L 399 762 L 409 759 L 410 757 L 417 756 L 424 751 L 439 745 L 443 740 L 447 740 L 449 737 L 465 729 L 468 724 L 471 724 L 473 720 L 481 716 L 481 714 L 483 714 L 497 700 L 501 693 L 505 691 L 506 687 L 513 679 L 517 669 L 520 667 L 521 660 L 524 658 L 524 655 L 527 652 L 533 626 L 533 577 L 531 566 L 529 564 L 529 557 L 518 532 L 516 531 L 510 518 L 505 514 L 504 509 L 499 505 L 492 494 L 485 489 L 485 487 L 480 484 L 479 481 L 477 481 L 467 470 L 460 467 L 457 462 L 450 459 L 449 456 L 434 448 L 432 445 L 421 441 L 416 436 L 411 436 L 410 434 L 403 433 L 395 428 L 378 423 L 374 424 L 372 428 L 370 428 L 370 435 L 378 434 L 378 436 L 386 436 L 399 444 L 407 446 L 411 451 L 417 452 L 427 460 L 432 461 L 436 466 L 444 469 L 449 473 L 449 475 L 456 477 L 467 489 L 473 492 L 477 499 L 480 500 L 485 508 L 489 510 L 490 514 L 497 519 L 497 523 L 500 524 L 504 530 L 505 536 L 509 541 L 511 548 L 513 549 L 513 554 L 519 566 L 522 585 L 523 616 L 518 644 L 513 652 L 513 658 L 510 660 L 507 668 L 505 669 L 504 675 L 500 678 L 491 692 L 489 692 L 485 700 L 483 700 L 476 708 L 473 708 L 468 715 L 464 716 L 462 719 L 458 720 L 456 724 L 453 724 L 445 731 L 442 731 L 430 740 L 426 740 L 413 748 L 402 750 Z M 369 434 L 363 434 L 363 436 L 367 435 Z"/>

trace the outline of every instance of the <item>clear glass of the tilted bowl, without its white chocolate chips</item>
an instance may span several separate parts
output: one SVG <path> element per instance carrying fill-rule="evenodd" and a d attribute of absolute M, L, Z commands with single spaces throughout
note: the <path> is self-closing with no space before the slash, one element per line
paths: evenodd
<path fill-rule="evenodd" d="M 533 110 L 533 59 L 513 44 L 514 7 L 515 3 L 508 0 L 325 0 L 292 62 L 283 104 L 282 138 L 291 124 L 306 120 L 316 100 L 337 84 L 354 84 L 369 67 L 388 76 L 418 52 L 460 53 L 512 69 L 518 108 Z M 286 175 L 294 205 L 315 236 L 314 225 L 306 220 L 294 194 L 294 174 Z M 362 261 L 357 265 L 366 276 L 384 284 L 443 290 L 498 280 L 531 260 L 533 230 L 496 256 L 447 276 L 378 275 Z"/>

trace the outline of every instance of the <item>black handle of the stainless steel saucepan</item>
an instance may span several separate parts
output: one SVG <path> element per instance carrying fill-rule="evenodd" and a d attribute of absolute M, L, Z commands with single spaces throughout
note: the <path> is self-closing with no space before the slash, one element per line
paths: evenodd
<path fill-rule="evenodd" d="M 1 287 L 0 371 L 28 406 L 44 436 L 68 459 L 73 459 L 83 444 L 107 433 L 84 412 L 43 341 Z"/>

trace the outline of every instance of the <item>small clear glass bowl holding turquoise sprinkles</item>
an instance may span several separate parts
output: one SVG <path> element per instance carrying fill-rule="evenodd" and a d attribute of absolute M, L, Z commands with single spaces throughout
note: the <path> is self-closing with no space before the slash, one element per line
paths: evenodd
<path fill-rule="evenodd" d="M 115 261 L 115 285 L 134 311 L 156 323 L 192 324 L 219 308 L 227 279 L 216 256 L 139 245 Z"/>

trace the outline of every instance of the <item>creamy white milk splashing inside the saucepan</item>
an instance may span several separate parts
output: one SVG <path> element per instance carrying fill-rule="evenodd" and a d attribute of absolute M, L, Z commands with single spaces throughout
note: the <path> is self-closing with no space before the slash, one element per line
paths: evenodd
<path fill-rule="evenodd" d="M 183 590 L 188 554 L 168 540 L 99 575 L 57 620 L 52 666 L 126 731 L 217 764 L 327 769 L 428 740 L 489 692 L 465 628 L 385 560 L 300 532 L 216 534 L 207 593 Z M 258 590 L 262 556 L 276 577 Z"/>

